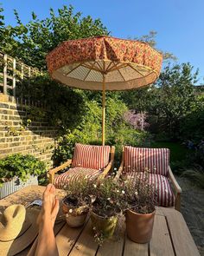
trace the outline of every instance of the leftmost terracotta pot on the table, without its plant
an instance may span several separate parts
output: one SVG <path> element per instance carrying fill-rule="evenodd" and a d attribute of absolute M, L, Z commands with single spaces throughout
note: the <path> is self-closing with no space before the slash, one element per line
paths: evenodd
<path fill-rule="evenodd" d="M 70 210 L 72 211 L 70 212 Z M 73 208 L 73 206 L 68 206 L 67 203 L 62 200 L 62 212 L 65 213 L 68 226 L 79 227 L 84 225 L 89 208 L 87 206 Z"/>

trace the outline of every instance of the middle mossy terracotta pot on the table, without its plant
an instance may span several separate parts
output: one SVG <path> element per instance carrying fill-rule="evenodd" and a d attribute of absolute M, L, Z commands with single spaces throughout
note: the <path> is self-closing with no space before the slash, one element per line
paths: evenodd
<path fill-rule="evenodd" d="M 115 228 L 118 223 L 118 216 L 102 217 L 96 213 L 91 214 L 92 227 L 96 228 L 97 231 L 103 233 L 105 239 L 112 238 Z"/>

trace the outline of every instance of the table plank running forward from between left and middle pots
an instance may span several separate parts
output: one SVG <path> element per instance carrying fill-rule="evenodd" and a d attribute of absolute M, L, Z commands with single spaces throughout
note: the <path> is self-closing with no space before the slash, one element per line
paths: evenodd
<path fill-rule="evenodd" d="M 76 244 L 73 246 L 73 249 L 69 256 L 93 256 L 98 250 L 98 244 L 94 241 L 93 232 L 92 232 L 92 223 L 89 220 L 80 234 L 79 239 Z"/>

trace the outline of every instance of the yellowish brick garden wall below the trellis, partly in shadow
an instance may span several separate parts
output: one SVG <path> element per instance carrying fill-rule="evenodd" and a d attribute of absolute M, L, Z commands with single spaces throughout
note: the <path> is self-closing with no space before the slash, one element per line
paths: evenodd
<path fill-rule="evenodd" d="M 31 115 L 29 109 L 44 112 L 0 94 L 0 158 L 14 153 L 32 154 L 51 167 L 57 128 L 50 127 L 45 116 Z"/>

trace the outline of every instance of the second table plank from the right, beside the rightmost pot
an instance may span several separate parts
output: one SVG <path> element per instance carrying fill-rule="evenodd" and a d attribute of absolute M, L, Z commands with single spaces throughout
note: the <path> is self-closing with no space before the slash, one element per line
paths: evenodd
<path fill-rule="evenodd" d="M 155 223 L 150 240 L 150 255 L 175 255 L 165 216 L 155 215 Z"/>

